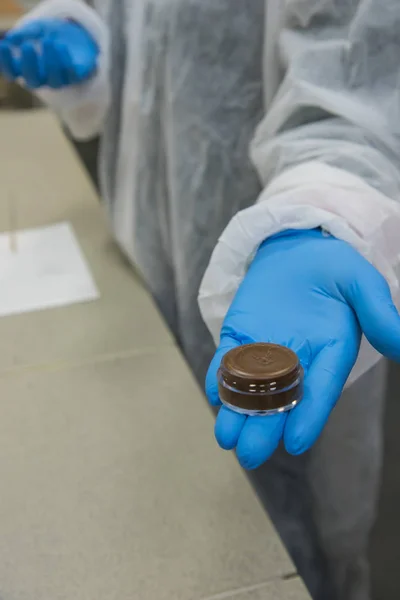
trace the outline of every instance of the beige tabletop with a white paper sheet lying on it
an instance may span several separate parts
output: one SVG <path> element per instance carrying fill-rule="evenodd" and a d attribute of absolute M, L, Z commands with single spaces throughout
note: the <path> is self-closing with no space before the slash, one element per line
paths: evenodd
<path fill-rule="evenodd" d="M 0 598 L 306 600 L 55 122 L 0 134 L 0 230 L 70 221 L 101 292 L 0 320 Z"/>

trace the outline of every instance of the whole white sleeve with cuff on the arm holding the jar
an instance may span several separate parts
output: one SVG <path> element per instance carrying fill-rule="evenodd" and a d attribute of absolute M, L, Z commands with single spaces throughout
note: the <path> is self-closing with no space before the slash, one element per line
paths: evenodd
<path fill-rule="evenodd" d="M 399 287 L 400 4 L 269 0 L 266 35 L 278 27 L 266 64 L 282 83 L 251 146 L 264 190 L 222 233 L 200 289 L 216 342 L 254 253 L 279 231 L 322 227 L 370 260 L 395 300 Z"/>

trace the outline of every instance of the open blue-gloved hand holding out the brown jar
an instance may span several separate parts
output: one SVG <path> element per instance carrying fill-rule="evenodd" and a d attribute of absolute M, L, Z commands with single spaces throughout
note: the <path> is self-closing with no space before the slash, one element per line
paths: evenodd
<path fill-rule="evenodd" d="M 389 286 L 368 261 L 319 230 L 289 231 L 264 242 L 226 315 L 207 396 L 219 404 L 217 370 L 228 350 L 274 342 L 297 352 L 304 398 L 273 416 L 246 417 L 223 406 L 215 426 L 220 446 L 236 448 L 247 469 L 265 462 L 282 438 L 291 454 L 308 450 L 341 395 L 362 332 L 380 353 L 400 360 L 400 317 Z"/>

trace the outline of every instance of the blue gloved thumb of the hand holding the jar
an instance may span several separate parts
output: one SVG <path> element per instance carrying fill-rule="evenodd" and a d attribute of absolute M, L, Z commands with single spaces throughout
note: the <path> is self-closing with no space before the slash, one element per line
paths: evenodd
<path fill-rule="evenodd" d="M 400 362 L 400 316 L 385 278 L 363 259 L 357 279 L 342 292 L 370 344 Z"/>

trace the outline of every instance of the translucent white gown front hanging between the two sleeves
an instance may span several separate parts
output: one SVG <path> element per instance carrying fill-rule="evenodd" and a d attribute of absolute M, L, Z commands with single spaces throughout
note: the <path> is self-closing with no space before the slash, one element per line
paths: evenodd
<path fill-rule="evenodd" d="M 264 7 L 261 0 L 243 2 L 239 12 L 231 6 L 229 0 L 145 3 L 142 95 L 132 98 L 131 67 L 112 70 L 116 101 L 101 150 L 116 237 L 200 381 L 214 349 L 197 306 L 201 277 L 226 223 L 260 191 L 248 146 L 262 115 Z M 127 10 L 113 5 L 113 39 L 121 37 L 121 23 L 135 18 Z M 211 27 L 215 22 L 221 27 Z M 253 32 L 250 46 L 245 31 Z M 113 65 L 121 64 L 124 43 L 113 46 Z"/>

